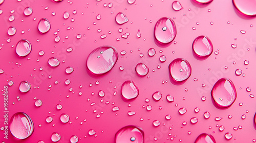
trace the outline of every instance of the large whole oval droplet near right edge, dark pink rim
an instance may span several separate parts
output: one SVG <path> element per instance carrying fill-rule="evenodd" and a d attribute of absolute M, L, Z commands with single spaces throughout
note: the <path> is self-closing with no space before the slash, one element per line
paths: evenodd
<path fill-rule="evenodd" d="M 230 79 L 218 80 L 211 89 L 211 97 L 219 107 L 229 107 L 237 98 L 237 90 Z"/>

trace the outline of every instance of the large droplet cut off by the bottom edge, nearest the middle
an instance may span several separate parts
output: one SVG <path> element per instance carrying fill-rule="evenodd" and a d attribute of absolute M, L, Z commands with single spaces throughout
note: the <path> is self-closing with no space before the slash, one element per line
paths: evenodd
<path fill-rule="evenodd" d="M 125 126 L 115 134 L 115 143 L 144 143 L 144 132 L 137 126 Z"/>

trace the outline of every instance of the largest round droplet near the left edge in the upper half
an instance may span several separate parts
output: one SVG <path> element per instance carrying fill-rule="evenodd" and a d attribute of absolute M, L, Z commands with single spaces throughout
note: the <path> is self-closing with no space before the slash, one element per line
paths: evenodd
<path fill-rule="evenodd" d="M 32 50 L 31 43 L 26 39 L 22 39 L 18 41 L 18 43 L 16 44 L 16 54 L 20 57 L 25 57 L 29 55 L 31 50 Z"/>

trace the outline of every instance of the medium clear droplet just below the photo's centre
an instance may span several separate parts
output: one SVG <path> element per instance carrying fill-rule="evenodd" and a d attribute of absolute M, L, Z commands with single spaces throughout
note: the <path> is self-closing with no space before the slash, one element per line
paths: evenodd
<path fill-rule="evenodd" d="M 135 99 L 139 95 L 139 89 L 133 81 L 125 81 L 121 87 L 121 94 L 124 99 Z"/>

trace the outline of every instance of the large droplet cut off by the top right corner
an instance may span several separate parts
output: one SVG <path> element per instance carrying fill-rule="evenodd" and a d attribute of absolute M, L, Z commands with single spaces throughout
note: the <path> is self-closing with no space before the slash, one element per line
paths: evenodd
<path fill-rule="evenodd" d="M 242 14 L 248 16 L 256 16 L 256 1 L 254 0 L 233 0 L 233 5 L 236 7 Z"/>

